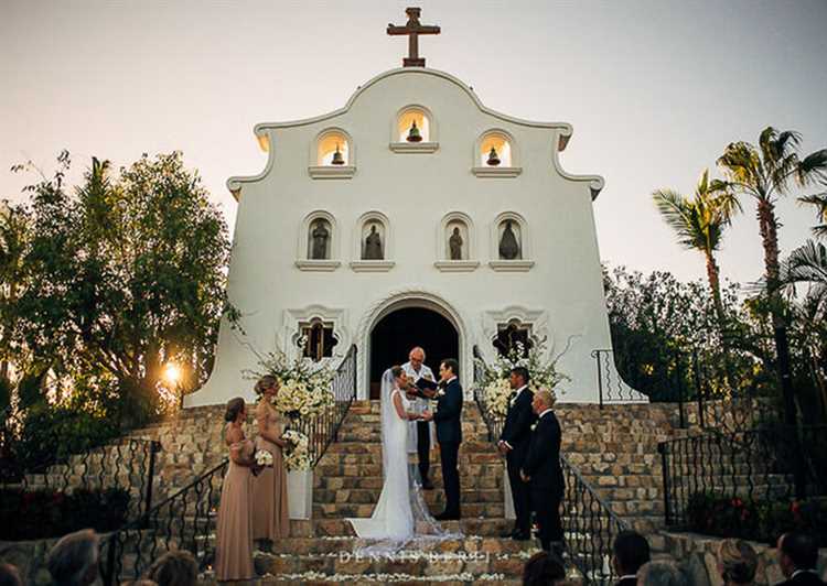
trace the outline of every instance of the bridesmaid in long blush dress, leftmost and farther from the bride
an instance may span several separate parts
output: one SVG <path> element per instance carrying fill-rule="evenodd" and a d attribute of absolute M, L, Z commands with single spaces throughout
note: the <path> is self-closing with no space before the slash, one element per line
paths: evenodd
<path fill-rule="evenodd" d="M 244 436 L 247 406 L 240 397 L 227 403 L 224 437 L 229 468 L 224 477 L 215 546 L 215 577 L 218 582 L 253 579 L 253 442 Z"/>

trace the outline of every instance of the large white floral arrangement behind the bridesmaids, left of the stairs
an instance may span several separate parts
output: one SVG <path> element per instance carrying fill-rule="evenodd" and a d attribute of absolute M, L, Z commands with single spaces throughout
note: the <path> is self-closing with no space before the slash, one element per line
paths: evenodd
<path fill-rule="evenodd" d="M 299 341 L 302 348 L 305 340 Z M 273 406 L 291 420 L 312 419 L 335 406 L 332 382 L 335 372 L 329 362 L 313 362 L 299 352 L 290 359 L 281 350 L 269 352 L 259 360 L 261 370 L 249 372 L 251 379 L 270 375 L 279 382 Z"/>

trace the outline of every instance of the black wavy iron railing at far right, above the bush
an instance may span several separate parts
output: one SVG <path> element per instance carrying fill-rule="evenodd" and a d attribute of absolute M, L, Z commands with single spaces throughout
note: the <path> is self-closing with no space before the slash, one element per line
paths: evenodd
<path fill-rule="evenodd" d="M 702 499 L 747 506 L 827 495 L 827 426 L 710 430 L 658 444 L 667 527 L 694 529 Z"/>

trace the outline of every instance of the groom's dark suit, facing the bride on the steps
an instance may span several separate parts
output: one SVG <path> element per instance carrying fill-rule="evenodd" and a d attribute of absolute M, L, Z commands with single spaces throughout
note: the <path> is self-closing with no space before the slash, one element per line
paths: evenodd
<path fill-rule="evenodd" d="M 459 379 L 453 379 L 444 388 L 444 394 L 437 398 L 437 411 L 433 413 L 442 459 L 442 481 L 445 486 L 444 512 L 452 517 L 460 516 L 460 471 L 457 460 L 462 443 L 461 414 L 462 386 Z"/>

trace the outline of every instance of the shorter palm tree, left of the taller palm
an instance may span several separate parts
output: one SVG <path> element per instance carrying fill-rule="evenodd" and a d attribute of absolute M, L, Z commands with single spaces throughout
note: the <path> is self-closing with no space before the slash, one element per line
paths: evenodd
<path fill-rule="evenodd" d="M 710 183 L 709 170 L 701 174 L 692 197 L 672 189 L 657 189 L 652 197 L 666 224 L 677 234 L 678 242 L 687 250 L 697 250 L 704 254 L 718 327 L 723 337 L 727 316 L 721 301 L 720 269 L 715 253 L 721 248 L 723 232 L 731 224 L 732 216 L 741 210 L 738 198 L 732 192 L 721 189 L 720 182 Z"/>

